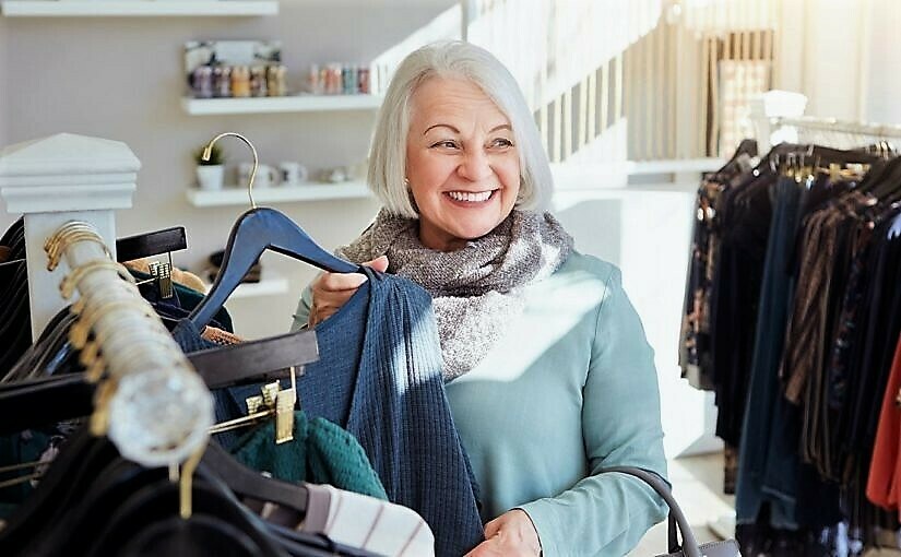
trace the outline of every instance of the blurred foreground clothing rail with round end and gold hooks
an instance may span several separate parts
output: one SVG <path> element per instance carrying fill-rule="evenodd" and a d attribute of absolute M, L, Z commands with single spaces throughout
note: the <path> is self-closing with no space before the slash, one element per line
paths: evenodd
<path fill-rule="evenodd" d="M 68 273 L 64 298 L 78 292 L 69 340 L 90 380 L 98 381 L 92 432 L 144 466 L 174 465 L 206 446 L 210 391 L 97 229 L 70 221 L 47 238 L 47 270 Z"/>

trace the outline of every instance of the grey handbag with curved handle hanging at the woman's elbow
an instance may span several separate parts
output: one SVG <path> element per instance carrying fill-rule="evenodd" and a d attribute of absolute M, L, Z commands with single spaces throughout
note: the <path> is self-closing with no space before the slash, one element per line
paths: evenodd
<path fill-rule="evenodd" d="M 676 499 L 673 498 L 669 486 L 657 474 L 635 466 L 612 466 L 603 469 L 600 472 L 619 472 L 620 474 L 637 477 L 651 486 L 654 491 L 666 501 L 666 505 L 669 507 L 667 532 L 669 553 L 659 555 L 657 557 L 742 557 L 742 552 L 735 540 L 709 542 L 698 545 L 695 533 L 688 524 L 688 519 L 685 518 L 681 509 L 676 503 Z M 679 545 L 679 533 L 681 534 L 681 545 Z"/>

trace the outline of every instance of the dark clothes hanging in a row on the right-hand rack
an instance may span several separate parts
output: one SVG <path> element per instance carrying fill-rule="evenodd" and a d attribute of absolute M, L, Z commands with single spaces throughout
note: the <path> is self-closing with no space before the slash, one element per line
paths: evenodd
<path fill-rule="evenodd" d="M 864 488 L 879 420 L 874 401 L 889 400 L 901 333 L 901 247 L 888 234 L 901 167 L 877 165 L 861 180 L 858 167 L 842 167 L 870 164 L 872 155 L 818 146 L 780 145 L 764 161 L 793 150 L 806 168 L 792 163 L 779 178 L 775 165 L 760 165 L 716 189 L 706 241 L 718 251 L 706 253 L 713 274 L 704 291 L 716 434 L 740 443 L 743 552 L 830 555 L 846 537 L 859 555 L 898 526 Z M 819 173 L 810 161 L 841 164 Z M 692 248 L 689 288 L 698 266 Z"/>

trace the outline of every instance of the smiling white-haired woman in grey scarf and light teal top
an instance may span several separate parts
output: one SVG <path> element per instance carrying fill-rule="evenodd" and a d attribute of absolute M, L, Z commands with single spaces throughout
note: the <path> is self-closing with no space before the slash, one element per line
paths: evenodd
<path fill-rule="evenodd" d="M 432 296 L 482 490 L 486 541 L 470 555 L 626 554 L 665 508 L 641 482 L 598 471 L 665 475 L 653 351 L 619 271 L 538 210 L 550 168 L 512 75 L 466 43 L 411 54 L 368 178 L 384 206 L 339 252 Z M 318 276 L 295 328 L 329 318 L 365 280 Z"/>

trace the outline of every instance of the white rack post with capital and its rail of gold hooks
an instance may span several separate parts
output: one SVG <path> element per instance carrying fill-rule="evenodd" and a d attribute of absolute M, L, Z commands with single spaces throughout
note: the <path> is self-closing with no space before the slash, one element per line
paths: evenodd
<path fill-rule="evenodd" d="M 59 133 L 0 151 L 0 198 L 24 214 L 32 339 L 74 301 L 105 375 L 92 429 L 139 464 L 175 465 L 206 446 L 213 404 L 116 263 L 114 210 L 131 208 L 140 167 L 125 143 Z"/>

